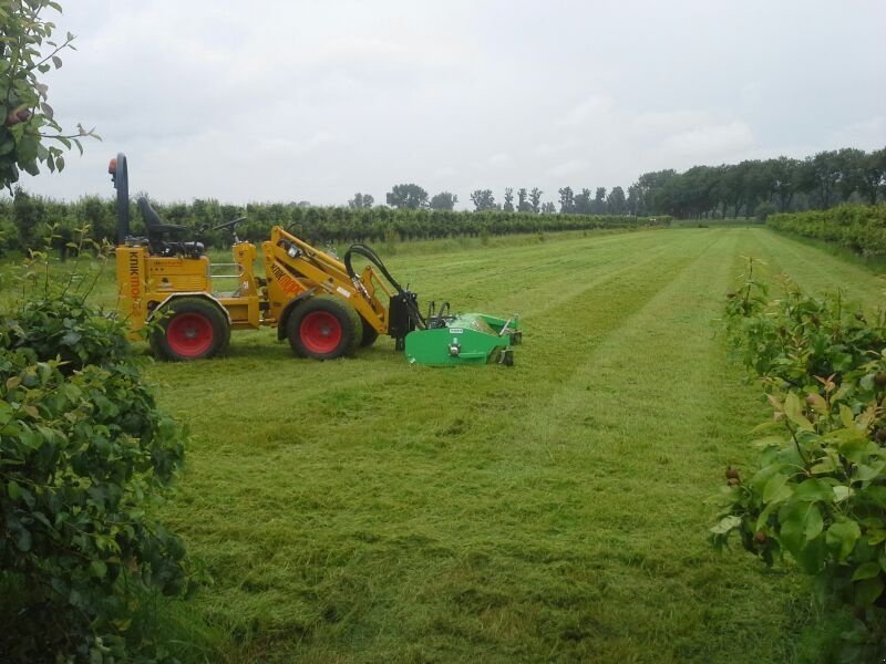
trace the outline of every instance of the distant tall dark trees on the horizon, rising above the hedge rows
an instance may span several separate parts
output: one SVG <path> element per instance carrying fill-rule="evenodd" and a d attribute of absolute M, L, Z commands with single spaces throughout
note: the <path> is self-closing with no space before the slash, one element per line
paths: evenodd
<path fill-rule="evenodd" d="M 886 148 L 866 153 L 846 147 L 804 159 L 776 157 L 739 164 L 693 166 L 643 173 L 627 191 L 620 186 L 557 189 L 557 203 L 542 203 L 538 187 L 506 187 L 502 203 L 492 189 L 471 193 L 474 211 L 564 215 L 670 215 L 678 218 L 751 217 L 772 212 L 827 209 L 843 203 L 876 205 L 886 188 Z M 450 191 L 429 196 L 416 184 L 400 184 L 385 196 L 398 209 L 452 210 L 459 197 Z M 374 199 L 357 194 L 351 208 L 371 208 Z"/>

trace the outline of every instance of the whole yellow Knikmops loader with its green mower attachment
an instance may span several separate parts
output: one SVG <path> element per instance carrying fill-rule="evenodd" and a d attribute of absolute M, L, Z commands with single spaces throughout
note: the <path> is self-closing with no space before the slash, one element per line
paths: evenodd
<path fill-rule="evenodd" d="M 109 173 L 117 191 L 120 313 L 133 339 L 148 326 L 158 357 L 213 357 L 227 347 L 231 330 L 270 326 L 303 357 L 349 355 L 388 334 L 415 364 L 514 363 L 513 346 L 522 339 L 517 315 L 455 315 L 449 303 L 436 309 L 433 302 L 422 315 L 418 295 L 402 288 L 365 245 L 353 245 L 339 260 L 275 226 L 261 243 L 260 277 L 255 245 L 237 237 L 245 217 L 214 228 L 231 232 L 234 262 L 213 263 L 202 242 L 178 239 L 187 229 L 165 224 L 144 197 L 137 206 L 145 235 L 130 235 L 125 155 L 111 160 Z M 359 273 L 354 257 L 369 262 Z"/>

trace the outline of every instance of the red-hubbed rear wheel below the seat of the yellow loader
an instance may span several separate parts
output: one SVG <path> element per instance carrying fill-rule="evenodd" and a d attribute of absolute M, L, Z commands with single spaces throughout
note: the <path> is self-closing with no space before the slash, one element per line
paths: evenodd
<path fill-rule="evenodd" d="M 159 321 L 151 333 L 151 350 L 162 360 L 206 360 L 228 347 L 228 319 L 210 300 L 176 298 L 158 313 Z"/>

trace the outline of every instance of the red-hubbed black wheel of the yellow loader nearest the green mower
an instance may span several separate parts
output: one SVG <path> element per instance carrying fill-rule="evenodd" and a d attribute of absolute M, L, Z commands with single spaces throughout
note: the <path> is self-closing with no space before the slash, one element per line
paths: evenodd
<path fill-rule="evenodd" d="M 289 315 L 286 338 L 297 355 L 334 360 L 354 353 L 363 338 L 363 325 L 347 302 L 333 295 L 315 295 Z"/>

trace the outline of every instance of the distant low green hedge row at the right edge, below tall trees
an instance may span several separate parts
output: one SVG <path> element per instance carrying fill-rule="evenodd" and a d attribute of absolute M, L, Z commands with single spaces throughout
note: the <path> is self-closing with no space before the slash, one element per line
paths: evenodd
<path fill-rule="evenodd" d="M 775 230 L 833 242 L 862 256 L 886 256 L 886 204 L 772 215 L 766 224 Z"/>

